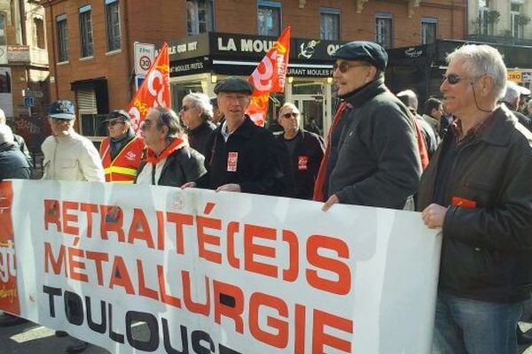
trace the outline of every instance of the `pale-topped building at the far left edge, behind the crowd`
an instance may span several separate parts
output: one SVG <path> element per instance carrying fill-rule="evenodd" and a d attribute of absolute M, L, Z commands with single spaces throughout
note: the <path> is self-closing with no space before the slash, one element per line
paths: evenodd
<path fill-rule="evenodd" d="M 50 100 L 43 7 L 32 1 L 0 1 L 0 108 L 30 150 L 42 140 Z"/>

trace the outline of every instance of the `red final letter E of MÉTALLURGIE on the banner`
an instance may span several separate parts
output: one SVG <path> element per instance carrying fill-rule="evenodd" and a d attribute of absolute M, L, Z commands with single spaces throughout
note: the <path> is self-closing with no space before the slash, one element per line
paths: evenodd
<path fill-rule="evenodd" d="M 346 353 L 351 352 L 351 342 L 335 337 L 334 335 L 327 335 L 325 333 L 325 327 L 336 328 L 352 335 L 352 320 L 334 316 L 331 313 L 321 312 L 319 310 L 314 310 L 312 316 L 312 354 L 325 354 L 325 345 Z"/>

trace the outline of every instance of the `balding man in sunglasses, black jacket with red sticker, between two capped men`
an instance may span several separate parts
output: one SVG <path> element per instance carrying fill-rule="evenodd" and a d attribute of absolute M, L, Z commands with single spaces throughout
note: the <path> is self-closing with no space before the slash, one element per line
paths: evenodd
<path fill-rule="evenodd" d="M 324 157 L 324 140 L 301 127 L 301 114 L 294 104 L 283 104 L 278 112 L 278 123 L 283 127 L 283 134 L 276 139 L 286 145 L 290 157 L 292 183 L 286 196 L 311 200 L 317 170 Z"/>

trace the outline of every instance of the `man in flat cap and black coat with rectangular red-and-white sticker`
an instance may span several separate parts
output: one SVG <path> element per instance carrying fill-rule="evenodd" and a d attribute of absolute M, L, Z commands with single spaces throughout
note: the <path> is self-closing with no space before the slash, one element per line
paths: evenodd
<path fill-rule="evenodd" d="M 285 189 L 285 175 L 278 158 L 278 142 L 246 115 L 253 87 L 229 77 L 215 86 L 223 123 L 207 139 L 207 173 L 186 187 L 216 191 L 278 195 Z"/>

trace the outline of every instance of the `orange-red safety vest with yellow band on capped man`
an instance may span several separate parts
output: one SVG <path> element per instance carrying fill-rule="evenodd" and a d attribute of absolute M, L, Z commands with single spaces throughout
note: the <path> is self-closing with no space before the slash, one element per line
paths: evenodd
<path fill-rule="evenodd" d="M 133 183 L 137 176 L 142 151 L 145 148 L 144 139 L 136 136 L 122 148 L 116 158 L 111 159 L 109 138 L 106 137 L 100 145 L 100 158 L 104 165 L 106 181 L 117 183 Z"/>

